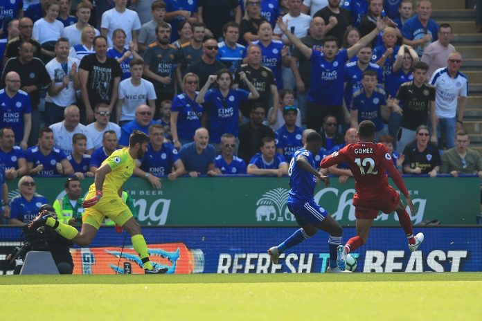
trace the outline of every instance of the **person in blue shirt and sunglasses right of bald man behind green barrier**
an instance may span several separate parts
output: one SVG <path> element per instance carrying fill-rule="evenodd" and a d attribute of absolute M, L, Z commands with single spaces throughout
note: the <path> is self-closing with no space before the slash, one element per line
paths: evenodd
<path fill-rule="evenodd" d="M 221 154 L 216 156 L 216 172 L 218 174 L 246 174 L 246 163 L 234 154 L 235 147 L 233 134 L 221 136 Z"/>

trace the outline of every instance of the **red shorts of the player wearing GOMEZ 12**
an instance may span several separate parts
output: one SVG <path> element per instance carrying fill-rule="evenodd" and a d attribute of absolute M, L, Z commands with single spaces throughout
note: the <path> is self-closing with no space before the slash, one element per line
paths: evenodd
<path fill-rule="evenodd" d="M 393 212 L 398 203 L 400 203 L 400 194 L 391 186 L 386 187 L 380 199 L 364 200 L 357 193 L 353 196 L 357 219 L 376 219 L 380 211 L 386 214 Z"/>

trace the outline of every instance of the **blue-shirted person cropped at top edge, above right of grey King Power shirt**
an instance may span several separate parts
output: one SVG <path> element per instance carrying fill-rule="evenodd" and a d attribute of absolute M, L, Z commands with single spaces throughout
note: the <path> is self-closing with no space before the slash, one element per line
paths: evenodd
<path fill-rule="evenodd" d="M 166 21 L 172 26 L 171 42 L 179 39 L 177 30 L 182 21 L 197 21 L 197 0 L 166 0 Z"/>

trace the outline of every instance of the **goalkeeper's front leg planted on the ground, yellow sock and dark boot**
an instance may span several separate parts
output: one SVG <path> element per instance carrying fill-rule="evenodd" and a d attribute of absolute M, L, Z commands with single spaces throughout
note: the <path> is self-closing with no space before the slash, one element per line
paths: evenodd
<path fill-rule="evenodd" d="M 168 271 L 168 268 L 157 268 L 152 266 L 149 259 L 148 244 L 145 243 L 144 236 L 141 232 L 141 226 L 139 226 L 139 224 L 136 222 L 136 219 L 134 219 L 132 212 L 129 210 L 129 208 L 127 208 L 127 206 L 123 212 L 120 212 L 116 216 L 110 218 L 112 221 L 116 222 L 118 226 L 122 226 L 122 228 L 130 234 L 132 246 L 141 258 L 146 274 L 163 274 Z"/>

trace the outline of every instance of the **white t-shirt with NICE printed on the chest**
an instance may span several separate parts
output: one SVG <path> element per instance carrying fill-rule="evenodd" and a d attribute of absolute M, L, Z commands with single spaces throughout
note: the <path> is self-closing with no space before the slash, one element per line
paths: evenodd
<path fill-rule="evenodd" d="M 124 100 L 119 120 L 133 120 L 136 116 L 136 108 L 140 104 L 157 98 L 152 82 L 141 79 L 141 84 L 134 86 L 130 77 L 119 83 L 118 95 L 119 99 Z"/>

